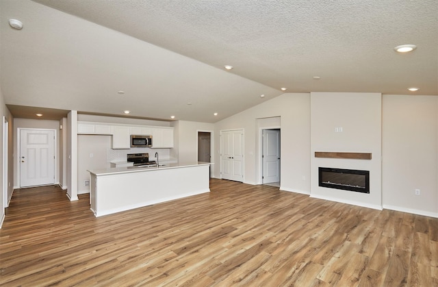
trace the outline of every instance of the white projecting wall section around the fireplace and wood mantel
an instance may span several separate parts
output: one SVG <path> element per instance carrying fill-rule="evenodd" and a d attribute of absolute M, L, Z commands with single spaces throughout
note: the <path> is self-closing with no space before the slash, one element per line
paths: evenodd
<path fill-rule="evenodd" d="M 381 103 L 379 93 L 311 92 L 312 197 L 381 209 Z M 372 153 L 372 160 L 315 158 L 315 151 Z M 318 186 L 318 167 L 370 171 L 370 193 Z"/>

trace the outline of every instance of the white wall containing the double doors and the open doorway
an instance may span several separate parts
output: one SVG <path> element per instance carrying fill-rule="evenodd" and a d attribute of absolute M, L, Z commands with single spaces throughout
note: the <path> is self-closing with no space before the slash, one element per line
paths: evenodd
<path fill-rule="evenodd" d="M 260 181 L 260 136 L 257 119 L 281 118 L 281 189 L 310 193 L 310 94 L 287 93 L 215 124 L 215 134 L 244 129 L 244 182 Z M 214 177 L 220 178 L 220 138 L 214 140 Z M 304 179 L 303 179 L 304 178 Z"/>

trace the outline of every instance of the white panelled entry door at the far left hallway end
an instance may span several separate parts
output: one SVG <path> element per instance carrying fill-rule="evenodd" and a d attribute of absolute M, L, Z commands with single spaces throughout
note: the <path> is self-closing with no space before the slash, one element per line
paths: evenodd
<path fill-rule="evenodd" d="M 55 131 L 20 130 L 20 187 L 55 184 Z"/>

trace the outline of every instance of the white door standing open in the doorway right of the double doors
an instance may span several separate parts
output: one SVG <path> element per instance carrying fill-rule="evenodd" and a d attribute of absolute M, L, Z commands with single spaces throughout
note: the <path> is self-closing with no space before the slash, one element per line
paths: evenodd
<path fill-rule="evenodd" d="M 263 184 L 280 182 L 280 130 L 263 129 Z"/>

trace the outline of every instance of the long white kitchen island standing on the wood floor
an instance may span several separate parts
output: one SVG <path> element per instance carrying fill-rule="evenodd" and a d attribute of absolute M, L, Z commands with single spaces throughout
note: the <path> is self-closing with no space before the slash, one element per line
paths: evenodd
<path fill-rule="evenodd" d="M 209 162 L 89 170 L 94 216 L 209 192 Z"/>

